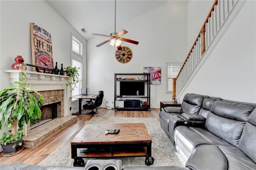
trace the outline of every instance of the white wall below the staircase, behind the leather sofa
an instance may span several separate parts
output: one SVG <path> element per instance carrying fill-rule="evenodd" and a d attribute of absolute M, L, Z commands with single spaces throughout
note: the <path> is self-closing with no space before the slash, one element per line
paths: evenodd
<path fill-rule="evenodd" d="M 255 5 L 246 1 L 180 100 L 198 93 L 256 103 Z"/>

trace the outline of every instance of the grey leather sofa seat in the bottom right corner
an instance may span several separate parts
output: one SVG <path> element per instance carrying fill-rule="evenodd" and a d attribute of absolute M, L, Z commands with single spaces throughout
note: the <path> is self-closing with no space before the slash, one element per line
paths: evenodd
<path fill-rule="evenodd" d="M 255 170 L 256 163 L 237 147 L 218 146 L 228 161 L 230 170 Z"/>

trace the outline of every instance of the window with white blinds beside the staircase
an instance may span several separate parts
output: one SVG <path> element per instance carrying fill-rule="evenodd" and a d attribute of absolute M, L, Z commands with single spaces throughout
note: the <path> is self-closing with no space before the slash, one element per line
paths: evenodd
<path fill-rule="evenodd" d="M 167 79 L 168 79 L 168 85 L 167 85 L 167 90 L 168 92 L 172 92 L 173 91 L 173 88 L 172 88 L 172 84 L 173 84 L 173 78 L 176 78 L 179 71 L 180 71 L 180 68 L 181 68 L 182 64 L 179 63 L 179 64 L 172 64 L 172 63 L 168 63 L 167 64 Z"/>

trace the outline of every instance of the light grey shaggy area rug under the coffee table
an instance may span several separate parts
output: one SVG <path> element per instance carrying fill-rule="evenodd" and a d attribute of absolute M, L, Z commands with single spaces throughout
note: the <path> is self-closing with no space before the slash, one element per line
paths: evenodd
<path fill-rule="evenodd" d="M 119 117 L 93 117 L 87 124 L 113 124 L 113 123 L 144 123 L 150 136 L 152 137 L 152 166 L 184 166 L 185 162 L 180 157 L 170 139 L 160 127 L 160 122 L 156 118 L 119 118 Z M 82 127 L 81 127 L 82 129 Z M 70 141 L 79 132 L 78 130 L 66 142 L 58 147 L 52 154 L 44 159 L 40 165 L 46 166 L 73 166 L 71 159 Z M 145 157 L 115 158 L 122 160 L 122 166 L 145 166 Z M 85 162 L 87 159 L 84 159 Z"/>

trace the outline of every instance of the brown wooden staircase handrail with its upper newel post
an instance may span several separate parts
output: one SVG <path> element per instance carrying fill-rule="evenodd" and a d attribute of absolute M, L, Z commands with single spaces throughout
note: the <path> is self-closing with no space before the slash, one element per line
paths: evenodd
<path fill-rule="evenodd" d="M 182 64 L 182 67 L 180 68 L 180 71 L 179 71 L 176 79 L 178 79 L 178 77 L 180 75 L 180 72 L 182 71 L 186 61 L 188 60 L 188 58 L 190 56 L 190 53 L 192 53 L 192 50 L 194 49 L 194 46 L 196 45 L 196 42 L 198 41 L 198 38 L 200 38 L 201 33 L 203 33 L 203 50 L 205 51 L 205 39 L 204 39 L 205 25 L 206 25 L 206 23 L 208 23 L 208 19 L 212 16 L 212 11 L 214 11 L 214 6 L 217 5 L 217 4 L 218 4 L 218 0 L 215 0 L 213 5 L 212 5 L 212 8 L 211 8 L 210 12 L 208 13 L 208 15 L 206 17 L 206 20 L 204 21 L 204 24 L 203 24 L 202 28 L 200 29 L 200 32 L 199 32 L 198 36 L 196 37 L 196 40 L 194 41 L 194 43 L 193 43 L 193 45 L 192 45 L 192 47 L 191 47 L 191 49 L 190 49 L 190 51 L 189 51 L 185 61 L 184 61 L 184 63 Z M 204 54 L 204 52 L 202 52 L 202 55 L 203 54 Z"/>

